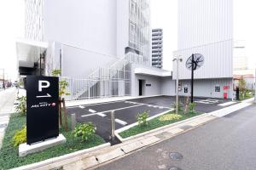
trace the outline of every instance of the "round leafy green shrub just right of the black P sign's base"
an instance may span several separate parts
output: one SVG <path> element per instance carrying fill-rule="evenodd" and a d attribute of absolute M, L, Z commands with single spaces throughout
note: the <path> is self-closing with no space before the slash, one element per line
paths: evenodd
<path fill-rule="evenodd" d="M 73 130 L 74 137 L 81 137 L 83 141 L 90 139 L 96 133 L 96 127 L 91 123 L 79 123 Z"/>

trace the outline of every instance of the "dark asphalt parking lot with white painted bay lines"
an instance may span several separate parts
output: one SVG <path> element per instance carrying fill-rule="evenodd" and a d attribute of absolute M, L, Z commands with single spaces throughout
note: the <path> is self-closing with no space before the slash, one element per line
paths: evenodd
<path fill-rule="evenodd" d="M 175 104 L 175 96 L 157 96 L 139 99 L 120 100 L 93 105 L 77 105 L 67 108 L 68 114 L 76 114 L 78 122 L 92 122 L 96 125 L 96 133 L 107 142 L 111 134 L 111 111 L 115 113 L 115 128 L 119 129 L 137 122 L 137 114 L 148 111 L 149 116 L 169 111 Z M 185 98 L 180 98 L 184 103 Z M 230 102 L 223 99 L 195 98 L 196 111 L 211 112 L 222 109 L 221 104 Z M 233 104 L 230 104 L 233 105 Z"/>

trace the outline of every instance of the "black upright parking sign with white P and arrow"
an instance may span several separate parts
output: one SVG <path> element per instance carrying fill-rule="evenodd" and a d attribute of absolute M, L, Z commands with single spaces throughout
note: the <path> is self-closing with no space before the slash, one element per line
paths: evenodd
<path fill-rule="evenodd" d="M 26 143 L 59 135 L 59 78 L 26 77 Z"/>

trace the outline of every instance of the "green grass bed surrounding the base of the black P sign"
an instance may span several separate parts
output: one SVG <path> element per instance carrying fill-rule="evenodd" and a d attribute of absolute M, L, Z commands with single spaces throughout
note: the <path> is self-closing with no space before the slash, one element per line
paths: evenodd
<path fill-rule="evenodd" d="M 70 116 L 67 117 L 67 122 L 70 126 Z M 0 169 L 9 169 L 13 167 L 20 167 L 26 164 L 31 164 L 38 161 L 44 161 L 56 156 L 63 156 L 68 153 L 72 153 L 77 150 L 84 150 L 99 144 L 104 144 L 105 141 L 100 136 L 94 134 L 92 138 L 86 142 L 82 142 L 80 138 L 74 138 L 72 131 L 69 129 L 65 132 L 64 128 L 60 129 L 60 132 L 66 137 L 67 142 L 55 147 L 43 150 L 38 153 L 34 153 L 25 157 L 19 157 L 18 147 L 14 147 L 11 144 L 11 139 L 15 135 L 15 132 L 26 124 L 26 116 L 19 116 L 18 114 L 12 114 L 9 119 L 9 125 L 6 128 L 3 138 L 3 146 L 0 150 Z"/>

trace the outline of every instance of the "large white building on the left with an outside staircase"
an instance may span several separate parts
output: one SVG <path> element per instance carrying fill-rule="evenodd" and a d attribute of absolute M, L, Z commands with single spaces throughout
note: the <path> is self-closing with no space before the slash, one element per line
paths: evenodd
<path fill-rule="evenodd" d="M 60 68 L 70 99 L 165 91 L 160 80 L 171 72 L 151 67 L 149 0 L 25 2 L 26 35 L 17 42 L 20 75 Z"/>

